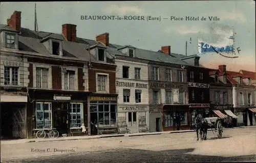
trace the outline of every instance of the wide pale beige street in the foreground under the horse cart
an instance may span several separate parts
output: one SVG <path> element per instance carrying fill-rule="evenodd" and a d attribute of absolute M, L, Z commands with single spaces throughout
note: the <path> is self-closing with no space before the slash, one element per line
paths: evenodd
<path fill-rule="evenodd" d="M 78 141 L 1 144 L 2 162 L 207 162 L 255 161 L 256 130 L 226 129 L 223 138 L 208 131 Z M 58 150 L 58 151 L 57 151 Z M 61 153 L 62 150 L 62 153 Z"/>

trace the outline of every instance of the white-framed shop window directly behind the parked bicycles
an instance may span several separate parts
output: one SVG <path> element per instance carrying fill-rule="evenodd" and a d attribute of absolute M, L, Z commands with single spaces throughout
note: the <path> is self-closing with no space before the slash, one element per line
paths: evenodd
<path fill-rule="evenodd" d="M 37 102 L 35 110 L 36 129 L 51 128 L 52 103 Z"/>

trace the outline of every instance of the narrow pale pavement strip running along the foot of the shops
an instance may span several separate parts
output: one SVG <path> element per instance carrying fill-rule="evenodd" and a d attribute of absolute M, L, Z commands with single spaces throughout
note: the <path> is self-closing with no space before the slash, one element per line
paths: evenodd
<path fill-rule="evenodd" d="M 243 126 L 233 127 L 224 129 L 237 129 L 237 128 L 251 128 L 256 126 Z M 208 129 L 211 130 L 211 129 Z M 57 137 L 57 138 L 30 138 L 30 139 L 14 139 L 14 140 L 1 140 L 1 144 L 19 144 L 19 143 L 34 143 L 34 142 L 54 142 L 54 141 L 71 141 L 71 140 L 82 140 L 82 139 L 96 139 L 106 137 L 121 137 L 121 136 L 144 136 L 144 135 L 159 135 L 168 133 L 184 133 L 184 132 L 195 132 L 196 130 L 179 130 L 179 131 L 162 131 L 162 132 L 148 132 L 148 133 L 127 133 L 127 134 L 104 134 L 104 135 L 92 135 L 92 136 L 68 136 L 68 137 Z"/>

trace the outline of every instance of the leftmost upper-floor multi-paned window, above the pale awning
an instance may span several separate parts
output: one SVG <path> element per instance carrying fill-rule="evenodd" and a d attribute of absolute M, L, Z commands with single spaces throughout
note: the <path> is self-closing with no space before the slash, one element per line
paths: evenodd
<path fill-rule="evenodd" d="M 6 67 L 4 70 L 5 85 L 18 85 L 18 67 Z"/>

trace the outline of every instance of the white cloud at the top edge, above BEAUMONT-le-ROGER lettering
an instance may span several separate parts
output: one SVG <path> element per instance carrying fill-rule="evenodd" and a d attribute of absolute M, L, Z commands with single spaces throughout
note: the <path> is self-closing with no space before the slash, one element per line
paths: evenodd
<path fill-rule="evenodd" d="M 125 15 L 125 14 L 143 14 L 143 9 L 140 9 L 137 6 L 117 6 L 111 5 L 104 8 L 104 11 L 108 14 L 118 14 L 118 15 Z"/>

